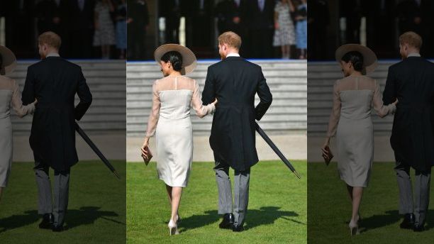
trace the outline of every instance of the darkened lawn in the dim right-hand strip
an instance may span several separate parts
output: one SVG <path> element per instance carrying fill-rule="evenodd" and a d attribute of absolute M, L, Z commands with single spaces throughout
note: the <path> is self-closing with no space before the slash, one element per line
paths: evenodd
<path fill-rule="evenodd" d="M 374 162 L 371 181 L 360 208 L 362 233 L 350 237 L 351 202 L 336 163 L 308 163 L 308 243 L 434 243 L 433 204 L 428 212 L 428 231 L 401 230 L 399 195 L 394 163 Z M 434 194 L 431 194 L 431 203 Z"/>

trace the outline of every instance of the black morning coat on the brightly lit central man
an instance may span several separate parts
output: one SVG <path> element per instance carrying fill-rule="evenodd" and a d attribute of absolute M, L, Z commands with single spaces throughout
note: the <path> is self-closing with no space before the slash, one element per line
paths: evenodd
<path fill-rule="evenodd" d="M 255 94 L 260 103 L 255 107 Z M 272 94 L 261 67 L 243 57 L 227 57 L 208 67 L 202 101 L 218 99 L 209 143 L 216 161 L 244 171 L 258 161 L 255 119 L 260 120 L 272 103 Z"/>

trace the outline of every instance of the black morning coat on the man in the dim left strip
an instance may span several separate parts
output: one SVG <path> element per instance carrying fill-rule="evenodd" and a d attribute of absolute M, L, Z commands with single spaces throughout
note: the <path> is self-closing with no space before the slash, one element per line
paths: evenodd
<path fill-rule="evenodd" d="M 74 96 L 79 104 L 74 108 Z M 33 114 L 30 147 L 35 161 L 55 170 L 69 170 L 78 162 L 74 122 L 92 101 L 82 69 L 62 57 L 46 57 L 30 65 L 24 84 L 23 104 L 38 99 Z"/>

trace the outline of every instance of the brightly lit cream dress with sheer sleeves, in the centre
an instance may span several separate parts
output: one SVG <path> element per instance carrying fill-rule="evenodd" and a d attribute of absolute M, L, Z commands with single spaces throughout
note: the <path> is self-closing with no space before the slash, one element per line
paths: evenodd
<path fill-rule="evenodd" d="M 184 76 L 157 79 L 146 135 L 155 134 L 158 176 L 170 187 L 187 187 L 193 157 L 190 110 L 204 117 L 216 109 L 202 105 L 199 84 Z"/>

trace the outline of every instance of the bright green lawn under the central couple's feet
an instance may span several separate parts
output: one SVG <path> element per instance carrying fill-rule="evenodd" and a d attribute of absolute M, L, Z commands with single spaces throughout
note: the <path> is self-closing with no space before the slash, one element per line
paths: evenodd
<path fill-rule="evenodd" d="M 169 236 L 165 184 L 155 162 L 127 163 L 127 243 L 306 243 L 306 161 L 294 162 L 297 179 L 282 162 L 252 167 L 245 231 L 218 228 L 213 163 L 194 162 L 179 214 L 180 235 Z M 230 171 L 233 176 L 233 171 Z"/>

